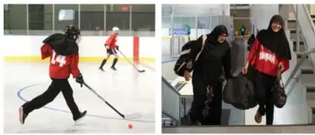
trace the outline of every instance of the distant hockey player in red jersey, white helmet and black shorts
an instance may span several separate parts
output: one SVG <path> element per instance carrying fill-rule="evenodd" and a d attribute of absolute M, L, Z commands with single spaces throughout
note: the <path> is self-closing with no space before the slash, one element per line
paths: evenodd
<path fill-rule="evenodd" d="M 105 43 L 105 47 L 107 49 L 107 57 L 103 59 L 103 62 L 101 63 L 101 66 L 99 67 L 99 69 L 101 71 L 103 71 L 103 65 L 106 63 L 106 61 L 108 60 L 108 58 L 111 56 L 111 55 L 114 55 L 115 58 L 113 59 L 113 62 L 112 62 L 112 70 L 116 71 L 117 69 L 115 68 L 115 64 L 117 63 L 118 61 L 118 54 L 117 54 L 117 50 L 119 50 L 119 46 L 117 46 L 116 42 L 117 42 L 117 35 L 119 34 L 119 28 L 118 27 L 113 27 L 112 28 L 112 35 L 110 36 L 110 38 L 108 38 L 106 40 L 106 43 Z M 104 71 L 103 71 L 104 72 Z"/>

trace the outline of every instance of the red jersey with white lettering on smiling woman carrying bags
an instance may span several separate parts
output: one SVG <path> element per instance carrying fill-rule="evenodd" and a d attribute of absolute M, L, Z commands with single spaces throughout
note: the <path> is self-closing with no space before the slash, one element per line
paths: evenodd
<path fill-rule="evenodd" d="M 277 75 L 279 63 L 284 65 L 283 72 L 289 69 L 289 60 L 279 58 L 274 52 L 262 46 L 258 39 L 255 40 L 249 52 L 247 62 L 249 62 L 252 58 L 253 60 L 250 64 L 254 65 L 258 72 L 263 72 L 271 76 Z"/>

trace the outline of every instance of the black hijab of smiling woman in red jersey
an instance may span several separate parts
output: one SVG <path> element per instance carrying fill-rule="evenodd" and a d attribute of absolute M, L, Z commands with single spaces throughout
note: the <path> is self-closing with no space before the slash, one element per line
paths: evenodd
<path fill-rule="evenodd" d="M 272 30 L 273 22 L 280 23 L 282 26 L 281 30 L 278 32 Z M 268 29 L 260 30 L 257 34 L 257 39 L 262 46 L 265 46 L 279 57 L 291 60 L 290 45 L 284 32 L 284 19 L 280 15 L 276 14 L 271 18 Z"/>

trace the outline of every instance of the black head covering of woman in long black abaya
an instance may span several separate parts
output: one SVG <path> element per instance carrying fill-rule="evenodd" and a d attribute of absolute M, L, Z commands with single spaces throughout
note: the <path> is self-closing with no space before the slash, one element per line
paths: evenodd
<path fill-rule="evenodd" d="M 212 45 L 219 45 L 219 44 L 226 44 L 227 41 L 225 40 L 223 43 L 218 42 L 218 38 L 220 35 L 226 34 L 229 36 L 228 29 L 224 25 L 216 26 L 210 34 L 207 35 L 207 42 L 211 43 Z"/>

